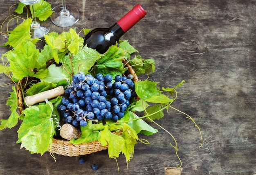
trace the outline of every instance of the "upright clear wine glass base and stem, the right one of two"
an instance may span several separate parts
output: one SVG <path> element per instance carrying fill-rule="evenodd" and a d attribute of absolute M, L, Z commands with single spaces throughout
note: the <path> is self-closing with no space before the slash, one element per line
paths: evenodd
<path fill-rule="evenodd" d="M 69 27 L 74 25 L 80 17 L 79 9 L 71 4 L 67 4 L 66 0 L 62 0 L 62 4 L 57 5 L 52 9 L 51 20 L 59 27 Z"/>

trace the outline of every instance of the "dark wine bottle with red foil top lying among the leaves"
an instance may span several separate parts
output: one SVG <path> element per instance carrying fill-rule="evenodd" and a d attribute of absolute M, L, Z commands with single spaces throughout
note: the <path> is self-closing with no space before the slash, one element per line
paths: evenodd
<path fill-rule="evenodd" d="M 145 15 L 146 11 L 137 4 L 111 27 L 96 28 L 89 31 L 88 34 L 83 36 L 84 45 L 103 54 L 111 45 L 118 43 L 119 38 L 144 18 Z"/>

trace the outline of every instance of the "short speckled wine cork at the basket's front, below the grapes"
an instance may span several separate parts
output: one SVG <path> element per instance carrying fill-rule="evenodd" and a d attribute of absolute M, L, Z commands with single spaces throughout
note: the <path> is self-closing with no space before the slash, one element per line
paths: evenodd
<path fill-rule="evenodd" d="M 61 126 L 60 135 L 63 139 L 67 140 L 78 139 L 81 136 L 81 130 L 65 123 Z"/>

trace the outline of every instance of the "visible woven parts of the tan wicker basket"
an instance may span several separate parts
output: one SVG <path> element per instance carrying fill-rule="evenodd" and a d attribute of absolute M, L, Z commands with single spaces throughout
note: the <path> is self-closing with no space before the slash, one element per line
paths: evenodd
<path fill-rule="evenodd" d="M 132 74 L 134 76 L 133 81 L 137 82 L 138 77 L 135 74 L 135 71 L 130 67 L 129 63 L 124 59 L 123 63 L 125 67 L 128 68 L 126 74 Z M 20 82 L 21 84 L 23 82 Z M 22 93 L 20 90 L 20 86 L 17 87 L 17 96 L 18 96 L 18 106 L 20 107 L 20 114 L 22 114 L 22 109 L 24 109 Z M 49 147 L 49 152 L 56 153 L 58 155 L 65 155 L 65 156 L 79 156 L 79 155 L 87 155 L 91 153 L 96 153 L 101 150 L 108 149 L 107 146 L 102 146 L 99 141 L 92 141 L 83 144 L 71 144 L 67 140 L 62 138 L 53 138 L 52 141 L 52 148 Z"/>

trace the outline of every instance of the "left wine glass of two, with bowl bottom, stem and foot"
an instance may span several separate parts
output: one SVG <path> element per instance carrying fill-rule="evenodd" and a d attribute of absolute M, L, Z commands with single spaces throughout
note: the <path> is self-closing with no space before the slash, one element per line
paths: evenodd
<path fill-rule="evenodd" d="M 19 0 L 23 4 L 29 5 L 32 11 L 32 23 L 30 25 L 30 32 L 32 38 L 43 38 L 44 34 L 47 34 L 51 28 L 50 22 L 46 20 L 45 22 L 37 22 L 36 21 L 36 16 L 35 16 L 35 11 L 34 11 L 34 6 L 36 2 L 39 0 Z"/>

